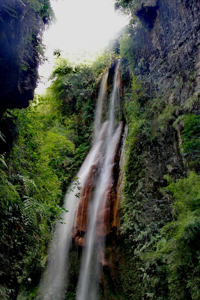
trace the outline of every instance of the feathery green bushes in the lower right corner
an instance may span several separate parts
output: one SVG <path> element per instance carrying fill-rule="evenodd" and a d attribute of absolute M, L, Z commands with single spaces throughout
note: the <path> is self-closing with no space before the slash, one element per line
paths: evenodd
<path fill-rule="evenodd" d="M 175 183 L 170 178 L 170 184 L 163 189 L 163 194 L 173 196 L 175 200 L 174 219 L 160 231 L 157 229 L 157 234 L 155 221 L 145 231 L 142 230 L 144 225 L 141 224 L 140 201 L 136 203 L 137 192 L 132 196 L 135 200 L 126 204 L 129 211 L 125 218 L 129 217 L 123 223 L 122 233 L 129 232 L 129 239 L 137 242 L 138 246 L 127 239 L 123 250 L 126 264 L 119 276 L 122 276 L 121 288 L 125 299 L 129 299 L 130 294 L 138 300 L 141 297 L 153 300 L 199 298 L 199 179 L 199 175 L 194 172 Z M 149 218 L 149 212 L 144 213 Z M 137 231 L 136 235 L 134 232 Z M 134 255 L 132 249 L 135 249 Z M 124 277 L 124 272 L 130 276 Z"/>

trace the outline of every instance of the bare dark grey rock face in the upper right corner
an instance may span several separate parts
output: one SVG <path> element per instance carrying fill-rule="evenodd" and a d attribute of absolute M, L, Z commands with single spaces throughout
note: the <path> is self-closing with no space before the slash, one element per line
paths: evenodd
<path fill-rule="evenodd" d="M 153 97 L 164 94 L 168 102 L 181 104 L 193 93 L 199 97 L 199 1 L 144 3 L 136 12 L 148 24 L 136 35 L 138 79 Z"/>

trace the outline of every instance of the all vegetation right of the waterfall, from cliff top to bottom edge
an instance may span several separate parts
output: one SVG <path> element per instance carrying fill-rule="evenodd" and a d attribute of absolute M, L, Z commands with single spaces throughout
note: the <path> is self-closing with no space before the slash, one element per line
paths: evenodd
<path fill-rule="evenodd" d="M 117 1 L 131 15 L 139 1 Z M 128 124 L 121 237 L 126 263 L 118 263 L 122 299 L 197 300 L 200 230 L 199 97 L 184 103 L 152 98 L 137 78 L 145 74 L 134 18 L 120 41 L 124 114 Z M 138 71 L 139 70 L 139 71 Z M 195 73 L 187 84 L 192 86 Z M 140 76 L 141 78 L 141 76 Z M 126 274 L 124 276 L 124 274 Z M 121 292 L 123 290 L 123 292 Z"/>

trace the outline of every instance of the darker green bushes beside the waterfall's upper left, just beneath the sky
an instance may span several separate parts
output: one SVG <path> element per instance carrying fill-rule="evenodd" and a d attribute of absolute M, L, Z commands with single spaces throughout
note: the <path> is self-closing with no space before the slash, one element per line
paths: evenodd
<path fill-rule="evenodd" d="M 70 168 L 72 166 L 77 169 L 90 149 L 95 88 L 99 75 L 111 66 L 115 58 L 116 53 L 107 51 L 92 66 L 71 65 L 63 58 L 56 61 L 47 96 L 62 104 L 60 111 L 66 137 L 76 146 L 74 159 L 66 161 Z"/>

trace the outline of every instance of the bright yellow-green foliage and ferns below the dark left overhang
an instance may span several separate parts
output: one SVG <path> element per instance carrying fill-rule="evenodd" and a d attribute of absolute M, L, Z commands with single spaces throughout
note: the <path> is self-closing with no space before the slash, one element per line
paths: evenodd
<path fill-rule="evenodd" d="M 37 97 L 29 108 L 3 116 L 15 122 L 18 136 L 10 153 L 0 157 L 0 275 L 30 277 L 32 285 L 45 268 L 54 219 L 62 221 L 63 197 L 75 175 L 70 168 L 75 146 L 66 137 L 59 107 Z"/>

